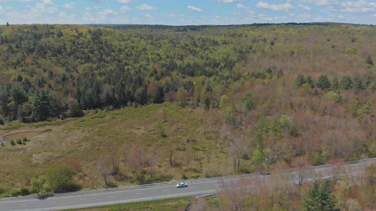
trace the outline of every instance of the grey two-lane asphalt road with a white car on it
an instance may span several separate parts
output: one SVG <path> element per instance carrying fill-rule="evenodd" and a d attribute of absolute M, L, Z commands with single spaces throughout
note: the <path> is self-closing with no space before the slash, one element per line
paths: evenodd
<path fill-rule="evenodd" d="M 376 158 L 367 160 L 352 161 L 337 165 L 323 165 L 306 168 L 304 181 L 313 181 L 320 178 L 331 178 L 337 172 L 338 166 L 344 171 L 341 175 L 358 175 L 364 172 L 365 166 L 376 162 Z M 336 170 L 334 169 L 336 168 Z M 293 178 L 296 183 L 302 170 L 285 170 L 272 173 L 272 175 L 248 174 L 231 176 L 225 178 L 201 179 L 187 181 L 188 187 L 176 188 L 177 182 L 163 185 L 150 185 L 143 187 L 124 187 L 108 190 L 85 191 L 67 194 L 55 194 L 52 196 L 31 196 L 0 199 L 0 211 L 48 211 L 82 208 L 89 206 L 102 206 L 117 203 L 138 202 L 154 199 L 164 199 L 180 196 L 203 196 L 205 194 L 220 191 L 224 183 L 234 183 L 241 179 L 247 179 L 249 184 L 252 181 L 262 181 L 263 184 L 272 185 L 275 182 L 273 175 L 285 175 L 286 178 Z M 252 185 L 250 185 L 251 187 Z"/>

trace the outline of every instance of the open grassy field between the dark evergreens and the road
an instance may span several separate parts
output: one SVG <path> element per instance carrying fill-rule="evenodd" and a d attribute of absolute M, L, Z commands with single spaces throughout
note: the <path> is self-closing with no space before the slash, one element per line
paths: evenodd
<path fill-rule="evenodd" d="M 162 110 L 167 110 L 167 122 Z M 108 156 L 112 156 L 119 167 L 119 173 L 110 177 L 113 187 L 206 177 L 208 173 L 203 172 L 204 168 L 222 168 L 221 173 L 230 173 L 232 167 L 221 164 L 230 163 L 230 158 L 224 152 L 216 153 L 210 146 L 211 141 L 201 136 L 205 130 L 202 115 L 202 109 L 183 109 L 166 102 L 96 114 L 89 112 L 83 118 L 64 121 L 12 122 L 1 128 L 2 134 L 52 131 L 31 137 L 26 145 L 6 143 L 0 148 L 0 160 L 7 161 L 0 163 L 0 189 L 9 191 L 12 187 L 27 185 L 25 164 L 28 173 L 37 176 L 67 157 L 82 164 L 82 171 L 75 176 L 82 190 L 104 187 L 97 163 Z M 161 130 L 165 137 L 161 136 Z M 173 146 L 172 166 L 169 146 Z M 134 167 L 137 165 L 135 156 L 143 157 L 143 166 L 138 169 Z M 187 159 L 190 159 L 188 165 Z"/>

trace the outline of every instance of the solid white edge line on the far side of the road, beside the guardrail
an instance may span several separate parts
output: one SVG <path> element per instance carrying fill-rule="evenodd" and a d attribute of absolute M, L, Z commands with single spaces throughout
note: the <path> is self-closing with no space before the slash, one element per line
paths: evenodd
<path fill-rule="evenodd" d="M 365 162 L 364 164 L 366 163 L 373 163 L 373 161 L 370 161 L 370 162 Z M 363 163 L 356 163 L 356 164 L 350 164 L 350 165 L 344 165 L 344 166 L 341 166 L 341 167 L 346 167 L 346 166 L 354 166 L 354 165 L 362 165 Z M 330 165 L 330 164 L 327 164 L 327 165 Z M 326 165 L 325 165 L 326 166 Z M 312 166 L 312 167 L 315 167 L 315 166 Z M 325 169 L 332 169 L 333 167 L 330 167 L 330 168 L 325 168 Z M 325 169 L 312 169 L 312 170 L 307 170 L 306 172 L 310 172 L 310 171 L 320 171 L 320 170 L 325 170 Z M 288 170 L 288 169 L 287 169 Z M 289 173 L 283 173 L 282 175 L 284 174 L 292 174 L 292 173 L 298 173 L 298 172 L 289 172 Z M 255 175 L 257 176 L 257 175 Z M 229 181 L 229 180 L 237 180 L 237 179 L 247 179 L 247 178 L 254 178 L 255 176 L 249 176 L 249 177 L 240 177 L 240 178 L 232 178 L 232 179 L 224 179 L 224 180 L 215 180 L 215 181 L 206 181 L 206 182 L 196 182 L 196 183 L 190 183 L 191 185 L 193 184 L 201 184 L 201 183 L 207 183 L 207 182 L 220 182 L 220 181 Z M 270 176 L 270 175 L 266 175 L 266 176 Z M 265 176 L 263 176 L 265 177 Z M 171 182 L 172 183 L 172 182 Z M 175 187 L 175 185 L 170 185 L 170 186 L 161 186 L 161 187 L 153 187 L 153 188 L 144 188 L 142 190 L 149 190 L 149 189 L 155 189 L 155 188 L 165 188 L 165 187 Z M 136 190 L 139 190 L 139 189 L 136 189 Z M 124 190 L 124 191 L 116 191 L 116 192 L 111 192 L 111 193 L 95 193 L 95 194 L 87 194 L 87 195 L 81 195 L 81 196 L 66 196 L 66 197 L 54 197 L 54 198 L 47 198 L 47 199 L 63 199 L 63 198 L 71 198 L 71 197 L 82 197 L 82 196 L 93 196 L 93 195 L 102 195 L 102 194 L 113 194 L 113 193 L 123 193 L 123 192 L 128 192 L 128 191 L 136 191 L 136 190 Z M 27 201 L 36 201 L 36 200 L 40 200 L 40 199 L 32 199 L 32 200 L 19 200 L 19 201 L 11 201 L 11 202 L 27 202 Z M 8 203 L 8 202 L 0 202 L 0 203 Z"/>

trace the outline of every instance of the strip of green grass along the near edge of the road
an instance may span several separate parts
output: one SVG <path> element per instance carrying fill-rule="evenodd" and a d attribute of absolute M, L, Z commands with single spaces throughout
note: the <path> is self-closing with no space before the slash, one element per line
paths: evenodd
<path fill-rule="evenodd" d="M 192 196 L 172 199 L 159 199 L 145 202 L 131 202 L 116 205 L 106 205 L 79 209 L 64 209 L 64 211 L 185 211 L 191 202 L 196 200 Z"/>

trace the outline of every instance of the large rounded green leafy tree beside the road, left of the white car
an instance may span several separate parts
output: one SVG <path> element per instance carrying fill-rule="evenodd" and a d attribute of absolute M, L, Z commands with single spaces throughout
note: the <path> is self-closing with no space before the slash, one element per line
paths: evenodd
<path fill-rule="evenodd" d="M 71 166 L 61 163 L 50 166 L 46 178 L 55 193 L 71 191 L 73 187 L 74 170 Z"/>

